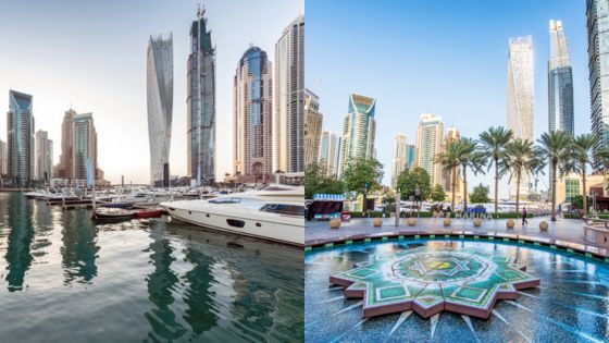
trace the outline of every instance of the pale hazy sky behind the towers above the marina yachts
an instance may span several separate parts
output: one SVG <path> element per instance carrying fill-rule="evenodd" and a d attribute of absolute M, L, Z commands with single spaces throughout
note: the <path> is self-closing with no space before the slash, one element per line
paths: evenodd
<path fill-rule="evenodd" d="M 34 96 L 36 130 L 61 152 L 61 121 L 72 103 L 92 112 L 98 162 L 114 183 L 149 182 L 146 57 L 150 35 L 173 32 L 174 96 L 171 173 L 186 173 L 186 62 L 197 3 L 207 9 L 216 46 L 216 175 L 232 173 L 233 77 L 249 44 L 274 59 L 284 28 L 303 0 L 0 0 L 0 112 L 9 89 Z M 0 139 L 7 139 L 0 114 Z"/>

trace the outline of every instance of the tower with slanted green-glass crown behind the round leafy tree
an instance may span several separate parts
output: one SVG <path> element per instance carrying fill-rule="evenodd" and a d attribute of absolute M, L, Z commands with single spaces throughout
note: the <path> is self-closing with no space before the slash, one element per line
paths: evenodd
<path fill-rule="evenodd" d="M 349 95 L 349 112 L 343 124 L 339 173 L 351 159 L 374 157 L 375 107 L 374 98 L 355 93 Z"/>

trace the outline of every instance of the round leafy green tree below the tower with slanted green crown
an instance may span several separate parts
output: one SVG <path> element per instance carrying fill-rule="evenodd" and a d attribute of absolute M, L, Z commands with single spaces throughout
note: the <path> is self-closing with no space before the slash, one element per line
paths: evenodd
<path fill-rule="evenodd" d="M 375 158 L 351 159 L 343 172 L 343 181 L 347 191 L 363 194 L 362 211 L 365 211 L 368 193 L 381 188 L 383 164 Z"/>

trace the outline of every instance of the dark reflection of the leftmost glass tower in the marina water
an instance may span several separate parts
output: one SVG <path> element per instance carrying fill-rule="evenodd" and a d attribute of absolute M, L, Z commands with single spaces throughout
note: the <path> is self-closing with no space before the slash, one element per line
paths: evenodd
<path fill-rule="evenodd" d="M 30 244 L 34 240 L 32 224 L 32 204 L 23 200 L 23 195 L 13 193 L 9 196 L 9 237 L 7 255 L 7 273 L 9 292 L 23 290 L 25 272 L 32 266 L 34 257 L 30 254 Z"/>

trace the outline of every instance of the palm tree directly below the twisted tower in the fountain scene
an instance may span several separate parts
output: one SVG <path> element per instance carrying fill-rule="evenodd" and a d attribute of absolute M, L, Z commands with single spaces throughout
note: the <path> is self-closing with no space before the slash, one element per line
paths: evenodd
<path fill-rule="evenodd" d="M 510 174 L 510 182 L 515 179 L 515 212 L 519 213 L 520 182 L 523 175 L 531 173 L 536 167 L 533 143 L 521 138 L 508 142 L 502 164 L 502 173 Z"/>

